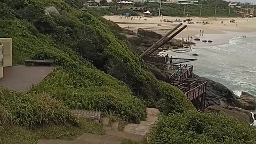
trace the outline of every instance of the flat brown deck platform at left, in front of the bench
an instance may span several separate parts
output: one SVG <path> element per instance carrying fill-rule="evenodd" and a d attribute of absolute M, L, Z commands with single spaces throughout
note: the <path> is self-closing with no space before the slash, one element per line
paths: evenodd
<path fill-rule="evenodd" d="M 4 67 L 4 77 L 0 78 L 0 85 L 7 89 L 26 92 L 31 86 L 37 85 L 55 67 L 47 66 L 12 66 Z"/>

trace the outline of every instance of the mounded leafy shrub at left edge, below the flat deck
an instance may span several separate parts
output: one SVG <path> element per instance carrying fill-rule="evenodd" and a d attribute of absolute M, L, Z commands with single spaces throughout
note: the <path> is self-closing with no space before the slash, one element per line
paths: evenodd
<path fill-rule="evenodd" d="M 67 107 L 47 94 L 35 96 L 0 87 L 0 95 L 1 111 L 7 113 L 6 120 L 12 124 L 29 127 L 66 123 L 77 125 L 75 117 L 70 115 Z M 4 113 L 1 115 L 6 116 Z"/>

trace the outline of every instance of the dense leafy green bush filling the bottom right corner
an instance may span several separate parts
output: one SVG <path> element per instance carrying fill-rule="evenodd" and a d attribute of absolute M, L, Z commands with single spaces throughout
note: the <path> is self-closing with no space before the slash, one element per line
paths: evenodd
<path fill-rule="evenodd" d="M 256 143 L 256 129 L 223 115 L 188 111 L 159 119 L 150 143 Z"/>

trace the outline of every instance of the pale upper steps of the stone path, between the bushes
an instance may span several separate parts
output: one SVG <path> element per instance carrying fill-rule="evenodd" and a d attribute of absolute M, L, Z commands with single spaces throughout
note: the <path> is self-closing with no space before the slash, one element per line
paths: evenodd
<path fill-rule="evenodd" d="M 140 124 L 127 124 L 124 127 L 125 132 L 146 136 L 150 127 L 156 122 L 160 111 L 155 108 L 147 108 L 147 119 L 141 121 Z"/>

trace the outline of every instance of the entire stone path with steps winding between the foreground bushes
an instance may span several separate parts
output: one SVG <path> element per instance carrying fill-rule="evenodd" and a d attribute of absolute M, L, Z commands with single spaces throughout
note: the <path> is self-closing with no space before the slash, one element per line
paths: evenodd
<path fill-rule="evenodd" d="M 84 133 L 75 140 L 39 140 L 37 144 L 121 144 L 124 140 L 143 141 L 160 114 L 158 109 L 147 108 L 147 119 L 140 124 L 127 124 L 124 131 L 106 129 L 105 135 Z"/>

